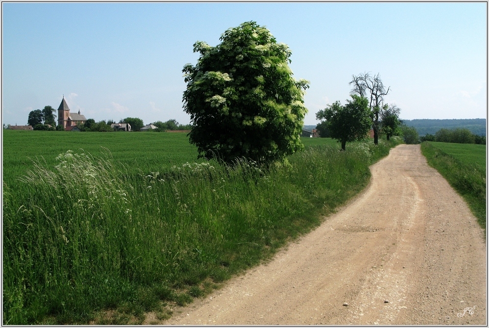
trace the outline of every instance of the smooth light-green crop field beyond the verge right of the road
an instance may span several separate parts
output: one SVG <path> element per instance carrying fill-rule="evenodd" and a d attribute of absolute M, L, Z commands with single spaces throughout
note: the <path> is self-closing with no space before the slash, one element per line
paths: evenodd
<path fill-rule="evenodd" d="M 465 164 L 477 164 L 486 168 L 486 145 L 430 142 L 434 147 L 461 160 Z"/>

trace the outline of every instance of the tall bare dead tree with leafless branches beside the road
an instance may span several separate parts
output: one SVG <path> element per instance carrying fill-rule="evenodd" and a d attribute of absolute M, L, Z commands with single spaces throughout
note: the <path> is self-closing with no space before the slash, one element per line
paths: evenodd
<path fill-rule="evenodd" d="M 384 101 L 384 96 L 389 93 L 391 87 L 387 88 L 387 91 L 380 79 L 380 74 L 370 76 L 369 73 L 359 74 L 358 76 L 352 76 L 352 80 L 349 84 L 353 84 L 352 93 L 357 93 L 361 97 L 366 97 L 368 94 L 370 97 L 370 110 L 372 112 L 372 129 L 373 129 L 373 143 L 377 145 L 379 143 L 379 112 Z"/>

